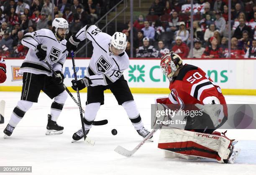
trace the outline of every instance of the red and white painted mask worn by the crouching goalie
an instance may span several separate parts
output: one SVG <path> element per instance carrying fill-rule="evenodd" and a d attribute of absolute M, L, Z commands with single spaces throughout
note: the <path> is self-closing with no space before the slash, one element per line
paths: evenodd
<path fill-rule="evenodd" d="M 182 66 L 182 58 L 173 51 L 166 53 L 161 58 L 161 70 L 163 74 L 172 81 L 172 76 L 177 71 L 177 69 Z"/>

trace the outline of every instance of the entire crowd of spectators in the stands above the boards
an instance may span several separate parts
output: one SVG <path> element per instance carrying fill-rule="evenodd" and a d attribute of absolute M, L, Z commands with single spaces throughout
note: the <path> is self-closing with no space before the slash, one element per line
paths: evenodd
<path fill-rule="evenodd" d="M 256 58 L 256 0 L 231 0 L 231 53 L 228 53 L 228 0 L 152 0 L 148 15 L 133 21 L 133 56 L 159 58 L 174 51 L 182 58 Z M 54 0 L 54 17 L 65 18 L 71 33 L 94 24 L 118 0 Z M 0 56 L 25 56 L 27 32 L 51 30 L 51 0 L 0 1 Z M 131 23 L 122 32 L 128 36 Z"/>

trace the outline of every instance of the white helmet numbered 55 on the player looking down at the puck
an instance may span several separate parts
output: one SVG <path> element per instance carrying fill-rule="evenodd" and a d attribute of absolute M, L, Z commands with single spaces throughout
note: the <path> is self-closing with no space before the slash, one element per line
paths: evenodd
<path fill-rule="evenodd" d="M 115 48 L 115 53 L 123 53 L 125 51 L 125 48 L 127 46 L 127 38 L 124 33 L 121 32 L 115 32 L 114 35 L 111 38 L 111 46 Z M 113 48 L 110 47 L 110 50 L 113 53 Z"/>

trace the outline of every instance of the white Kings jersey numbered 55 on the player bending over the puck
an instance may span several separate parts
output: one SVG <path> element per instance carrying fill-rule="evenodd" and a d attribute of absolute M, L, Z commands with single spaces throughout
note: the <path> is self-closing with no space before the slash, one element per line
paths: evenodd
<path fill-rule="evenodd" d="M 123 52 L 114 56 L 109 51 L 111 36 L 103 33 L 96 25 L 85 25 L 79 30 L 76 38 L 83 41 L 88 38 L 92 41 L 93 54 L 90 59 L 87 76 L 92 81 L 91 86 L 108 85 L 122 76 L 129 67 L 129 57 Z"/>

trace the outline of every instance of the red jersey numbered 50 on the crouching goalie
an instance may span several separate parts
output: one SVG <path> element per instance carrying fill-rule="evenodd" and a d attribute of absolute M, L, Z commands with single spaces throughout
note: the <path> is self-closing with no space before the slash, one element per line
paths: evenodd
<path fill-rule="evenodd" d="M 171 93 L 168 98 L 157 99 L 161 104 L 209 104 L 207 97 L 215 96 L 224 104 L 224 115 L 227 116 L 226 101 L 219 86 L 206 75 L 201 68 L 185 64 L 176 77 L 170 82 Z"/>

